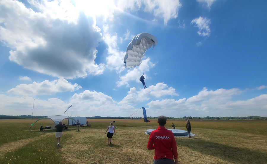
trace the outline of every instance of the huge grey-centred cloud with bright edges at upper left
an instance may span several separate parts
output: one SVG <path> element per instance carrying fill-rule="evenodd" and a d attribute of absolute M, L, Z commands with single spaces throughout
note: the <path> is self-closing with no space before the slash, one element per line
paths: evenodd
<path fill-rule="evenodd" d="M 104 65 L 94 61 L 102 36 L 93 17 L 70 13 L 74 6 L 64 2 L 31 3 L 38 12 L 18 1 L 0 2 L 0 40 L 12 49 L 10 61 L 55 77 L 103 73 Z"/>

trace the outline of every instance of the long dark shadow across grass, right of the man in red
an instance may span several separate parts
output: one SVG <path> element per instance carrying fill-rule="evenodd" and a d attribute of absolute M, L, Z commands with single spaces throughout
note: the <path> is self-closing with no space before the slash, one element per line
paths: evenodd
<path fill-rule="evenodd" d="M 188 147 L 201 154 L 215 156 L 232 163 L 267 163 L 266 153 L 249 149 L 209 142 L 198 138 L 191 138 L 183 141 L 179 140 L 176 143 L 177 146 Z"/>

